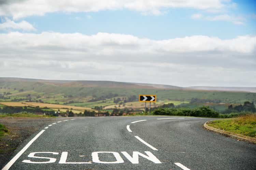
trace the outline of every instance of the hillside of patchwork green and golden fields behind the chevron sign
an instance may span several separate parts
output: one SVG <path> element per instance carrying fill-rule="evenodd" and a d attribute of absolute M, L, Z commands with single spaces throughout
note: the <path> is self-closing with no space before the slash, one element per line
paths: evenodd
<path fill-rule="evenodd" d="M 66 81 L 0 78 L 0 107 L 39 106 L 51 109 L 73 109 L 76 112 L 114 108 L 143 109 L 139 94 L 155 94 L 157 102 L 152 107 L 173 103 L 175 106 L 195 108 L 209 105 L 217 111 L 224 111 L 229 104 L 256 103 L 256 93 L 195 90 L 157 84 L 123 83 L 111 81 Z M 129 99 L 133 96 L 133 99 Z M 134 98 L 135 96 L 135 98 Z M 114 102 L 120 98 L 121 101 Z M 192 99 L 203 102 L 190 104 Z M 11 102 L 11 103 L 6 103 Z M 48 104 L 49 103 L 49 104 Z M 149 105 L 149 104 L 147 104 Z M 119 107 L 120 106 L 120 107 Z"/>

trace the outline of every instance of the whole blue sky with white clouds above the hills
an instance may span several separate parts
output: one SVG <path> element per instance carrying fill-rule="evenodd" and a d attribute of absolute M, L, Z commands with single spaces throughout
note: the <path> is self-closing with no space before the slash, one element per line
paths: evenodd
<path fill-rule="evenodd" d="M 0 77 L 256 87 L 254 0 L 0 0 Z"/>

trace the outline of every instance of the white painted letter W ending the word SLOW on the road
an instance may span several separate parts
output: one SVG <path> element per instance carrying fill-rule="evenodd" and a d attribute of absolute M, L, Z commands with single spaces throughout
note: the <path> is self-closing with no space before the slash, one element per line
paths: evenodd
<path fill-rule="evenodd" d="M 132 164 L 139 164 L 139 155 L 151 160 L 155 164 L 161 164 L 160 160 L 158 160 L 151 152 L 145 151 L 147 155 L 144 155 L 140 152 L 134 151 L 132 152 L 132 157 L 127 152 L 121 152 Z"/>

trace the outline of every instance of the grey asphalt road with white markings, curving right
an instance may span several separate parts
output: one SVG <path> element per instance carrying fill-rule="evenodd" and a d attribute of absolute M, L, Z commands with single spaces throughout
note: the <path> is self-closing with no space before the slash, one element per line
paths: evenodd
<path fill-rule="evenodd" d="M 205 130 L 208 120 L 67 118 L 23 142 L 3 169 L 256 169 L 256 145 Z"/>

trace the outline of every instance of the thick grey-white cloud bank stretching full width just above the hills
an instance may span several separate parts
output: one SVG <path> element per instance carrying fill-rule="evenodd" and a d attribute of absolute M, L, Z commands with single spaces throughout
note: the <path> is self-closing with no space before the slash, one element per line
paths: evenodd
<path fill-rule="evenodd" d="M 256 36 L 151 40 L 126 34 L 0 34 L 1 76 L 176 86 L 255 86 Z M 237 81 L 239 80 L 239 81 Z"/>

